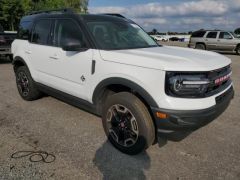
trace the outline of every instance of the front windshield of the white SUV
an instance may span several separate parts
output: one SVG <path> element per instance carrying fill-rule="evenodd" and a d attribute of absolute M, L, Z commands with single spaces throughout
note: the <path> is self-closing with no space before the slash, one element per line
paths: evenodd
<path fill-rule="evenodd" d="M 158 44 L 138 25 L 125 21 L 93 21 L 87 27 L 100 49 L 136 49 Z"/>

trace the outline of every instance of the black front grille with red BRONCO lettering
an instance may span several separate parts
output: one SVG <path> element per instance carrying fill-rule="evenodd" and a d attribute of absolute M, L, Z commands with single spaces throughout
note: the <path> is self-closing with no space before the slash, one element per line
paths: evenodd
<path fill-rule="evenodd" d="M 230 75 L 231 72 L 232 71 L 230 66 L 226 66 L 218 70 L 210 71 L 207 75 L 210 81 L 210 84 L 208 86 L 206 96 L 217 94 L 218 92 L 221 92 L 222 90 L 227 88 L 232 83 L 232 81 L 230 79 L 230 76 L 225 80 L 223 79 L 223 77 L 228 77 L 228 75 Z M 219 83 L 216 83 L 216 80 L 219 80 L 219 79 L 222 79 L 222 81 Z"/>

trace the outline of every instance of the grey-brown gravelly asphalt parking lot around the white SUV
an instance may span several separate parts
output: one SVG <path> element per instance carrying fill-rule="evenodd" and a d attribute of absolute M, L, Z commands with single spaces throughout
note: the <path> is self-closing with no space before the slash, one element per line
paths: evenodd
<path fill-rule="evenodd" d="M 240 179 L 240 56 L 223 55 L 232 59 L 235 85 L 225 113 L 180 142 L 137 156 L 114 149 L 92 114 L 49 96 L 22 100 L 12 65 L 0 60 L 0 179 Z M 11 158 L 19 151 L 56 159 Z"/>

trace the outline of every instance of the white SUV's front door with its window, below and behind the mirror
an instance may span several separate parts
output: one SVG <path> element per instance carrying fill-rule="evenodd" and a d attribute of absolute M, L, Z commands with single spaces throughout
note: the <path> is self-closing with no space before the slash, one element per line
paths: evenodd
<path fill-rule="evenodd" d="M 79 51 L 65 51 L 66 45 L 81 46 Z M 86 86 L 90 83 L 93 50 L 87 48 L 86 38 L 79 23 L 73 19 L 53 20 L 47 52 L 40 52 L 41 81 L 57 90 L 87 99 Z M 43 54 L 44 53 L 44 54 Z"/>

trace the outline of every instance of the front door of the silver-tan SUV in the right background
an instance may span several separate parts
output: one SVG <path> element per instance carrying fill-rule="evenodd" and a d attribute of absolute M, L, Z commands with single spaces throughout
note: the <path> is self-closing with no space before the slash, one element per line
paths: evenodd
<path fill-rule="evenodd" d="M 217 44 L 220 51 L 232 51 L 235 46 L 233 37 L 229 32 L 220 32 Z"/>

